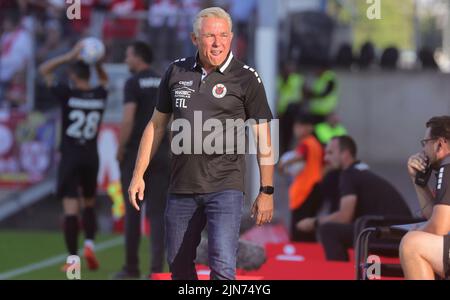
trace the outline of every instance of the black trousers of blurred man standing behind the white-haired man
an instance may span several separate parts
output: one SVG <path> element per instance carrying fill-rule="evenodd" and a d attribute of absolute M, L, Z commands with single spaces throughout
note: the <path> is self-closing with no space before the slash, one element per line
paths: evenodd
<path fill-rule="evenodd" d="M 125 201 L 125 266 L 130 272 L 139 271 L 139 243 L 141 239 L 141 215 L 128 198 L 128 187 L 133 177 L 137 152 L 126 153 L 121 164 L 121 183 Z M 153 165 L 155 168 L 153 168 Z M 164 167 L 158 167 L 163 165 Z M 160 273 L 164 264 L 164 211 L 169 187 L 169 169 L 166 163 L 152 162 L 150 170 L 145 174 L 144 200 L 146 215 L 151 226 L 151 263 L 150 272 Z"/>

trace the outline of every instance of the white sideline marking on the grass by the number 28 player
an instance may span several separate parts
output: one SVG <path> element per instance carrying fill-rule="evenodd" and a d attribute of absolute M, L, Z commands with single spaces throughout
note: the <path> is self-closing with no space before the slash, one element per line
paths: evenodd
<path fill-rule="evenodd" d="M 115 246 L 123 244 L 123 237 L 117 237 L 95 245 L 95 252 L 100 252 Z M 79 249 L 78 252 L 82 253 L 83 249 Z M 0 273 L 0 280 L 11 279 L 22 274 L 26 274 L 39 269 L 44 269 L 56 265 L 58 263 L 64 263 L 67 258 L 67 254 L 56 255 L 48 259 L 32 263 L 17 269 L 13 269 L 4 273 Z"/>

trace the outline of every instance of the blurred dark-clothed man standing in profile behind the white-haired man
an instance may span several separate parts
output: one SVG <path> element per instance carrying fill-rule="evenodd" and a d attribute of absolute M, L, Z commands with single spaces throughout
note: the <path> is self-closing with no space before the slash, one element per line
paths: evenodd
<path fill-rule="evenodd" d="M 155 110 L 161 76 L 150 67 L 152 50 L 144 42 L 136 41 L 127 48 L 125 63 L 133 75 L 125 83 L 117 159 L 121 167 L 124 198 L 128 199 L 127 188 L 133 177 L 139 142 Z M 164 209 L 169 187 L 169 152 L 169 139 L 166 134 L 152 160 L 152 166 L 145 175 L 145 184 L 149 190 L 145 197 L 145 207 L 151 227 L 150 273 L 163 271 Z M 141 217 L 128 200 L 125 201 L 125 208 L 125 265 L 114 276 L 115 279 L 140 277 L 138 248 Z"/>

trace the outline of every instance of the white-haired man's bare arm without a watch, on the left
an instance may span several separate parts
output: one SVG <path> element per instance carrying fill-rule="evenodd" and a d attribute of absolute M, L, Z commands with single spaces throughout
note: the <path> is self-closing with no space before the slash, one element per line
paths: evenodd
<path fill-rule="evenodd" d="M 171 113 L 162 113 L 155 109 L 152 119 L 147 124 L 142 135 L 136 164 L 134 166 L 133 179 L 128 188 L 130 202 L 137 210 L 139 210 L 139 206 L 136 201 L 136 194 L 138 194 L 140 201 L 144 200 L 144 173 L 161 144 L 170 117 Z"/>

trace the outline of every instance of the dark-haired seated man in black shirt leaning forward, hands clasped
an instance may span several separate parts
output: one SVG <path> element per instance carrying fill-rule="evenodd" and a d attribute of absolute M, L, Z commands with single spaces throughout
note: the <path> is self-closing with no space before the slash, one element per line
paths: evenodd
<path fill-rule="evenodd" d="M 317 229 L 327 260 L 348 261 L 347 249 L 353 246 L 354 221 L 361 216 L 410 216 L 400 193 L 385 179 L 356 159 L 356 144 L 349 136 L 333 138 L 325 150 L 325 161 L 341 170 L 339 209 L 327 216 L 307 218 L 297 229 Z"/>

